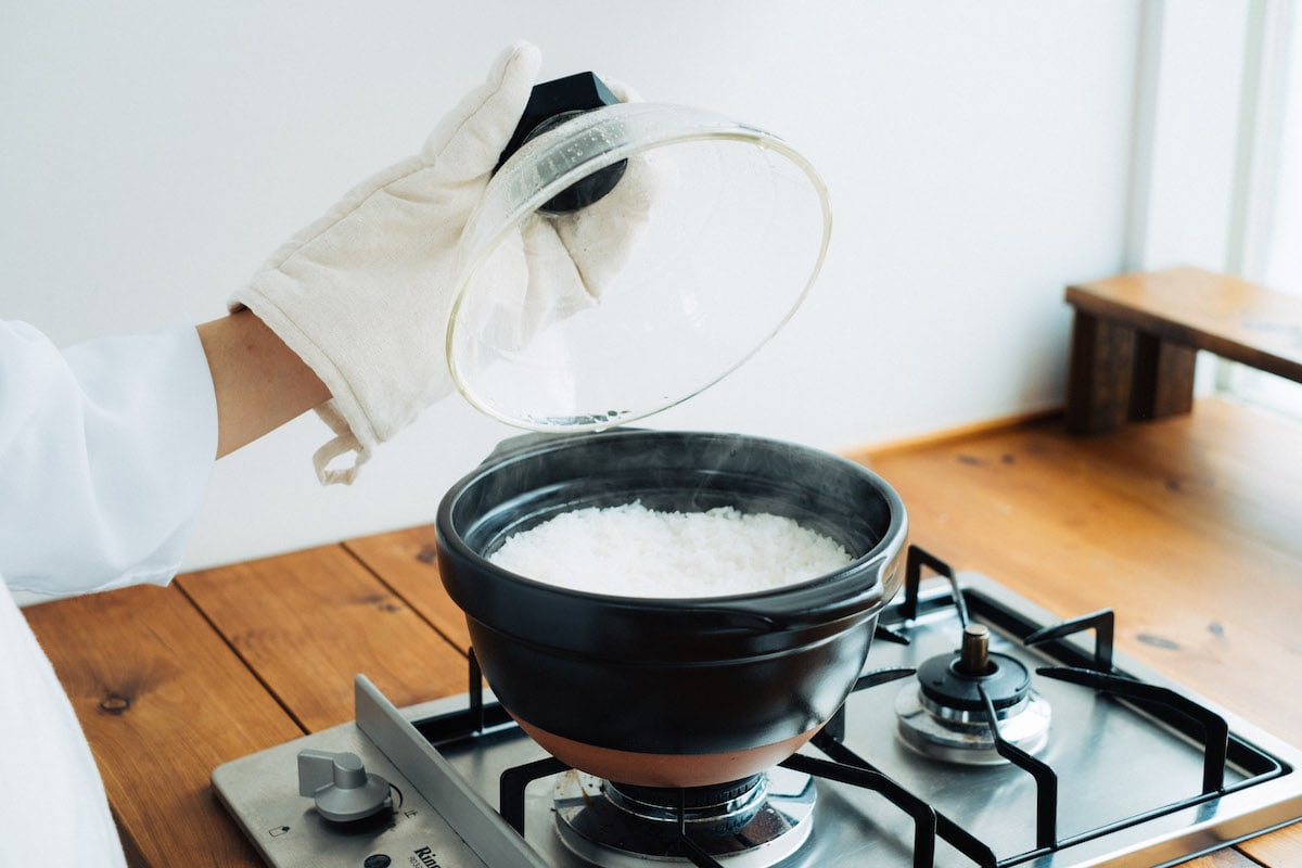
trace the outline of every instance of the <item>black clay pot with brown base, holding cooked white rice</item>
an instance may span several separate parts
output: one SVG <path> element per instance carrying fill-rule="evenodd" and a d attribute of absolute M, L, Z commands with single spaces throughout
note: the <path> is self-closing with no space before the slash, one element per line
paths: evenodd
<path fill-rule="evenodd" d="M 559 513 L 634 500 L 785 515 L 854 561 L 776 591 L 661 600 L 559 588 L 484 557 Z M 841 705 L 900 587 L 906 524 L 885 481 L 828 453 L 613 429 L 503 444 L 452 487 L 435 528 L 484 675 L 543 747 L 624 783 L 703 786 L 785 759 Z"/>

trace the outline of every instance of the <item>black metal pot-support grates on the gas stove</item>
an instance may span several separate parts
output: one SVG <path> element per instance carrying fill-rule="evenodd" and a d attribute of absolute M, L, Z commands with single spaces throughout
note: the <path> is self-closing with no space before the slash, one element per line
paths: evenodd
<path fill-rule="evenodd" d="M 923 571 L 928 570 L 948 580 L 950 593 L 930 597 L 926 601 L 921 593 Z M 1156 725 L 1169 726 L 1184 734 L 1191 742 L 1202 746 L 1203 785 L 1197 794 L 1172 804 L 1109 824 L 1087 833 L 1060 837 L 1057 830 L 1059 776 L 1044 761 L 1006 742 L 999 731 L 996 709 L 991 699 L 982 691 L 982 700 L 995 748 L 1017 768 L 1025 770 L 1035 781 L 1036 808 L 1034 817 L 1035 847 L 1025 852 L 997 858 L 992 848 L 976 835 L 936 811 L 924 799 L 909 791 L 888 774 L 874 766 L 845 744 L 846 708 L 842 708 L 827 722 L 823 730 L 810 742 L 827 756 L 816 759 L 797 753 L 783 763 L 796 772 L 835 781 L 842 785 L 861 787 L 880 794 L 892 806 L 913 820 L 913 864 L 914 868 L 930 868 L 935 864 L 937 839 L 947 842 L 960 854 L 980 868 L 1004 868 L 1027 863 L 1047 854 L 1082 841 L 1100 837 L 1143 822 L 1151 817 L 1181 811 L 1207 802 L 1226 793 L 1253 786 L 1276 777 L 1285 769 L 1267 753 L 1236 738 L 1226 721 L 1213 711 L 1167 687 L 1148 685 L 1113 668 L 1113 613 L 1101 610 L 1042 627 L 1025 619 L 1008 608 L 999 605 L 980 592 L 963 590 L 948 563 L 931 553 L 910 547 L 905 592 L 901 603 L 892 604 L 883 613 L 876 626 L 875 638 L 881 642 L 909 644 L 910 622 L 939 608 L 956 610 L 962 626 L 979 621 L 997 627 L 1023 645 L 1035 645 L 1056 665 L 1038 669 L 1038 674 L 1061 682 L 1094 688 L 1130 704 L 1137 711 L 1151 717 Z M 1085 652 L 1069 639 L 1075 634 L 1092 630 L 1095 643 L 1092 652 Z M 914 674 L 913 669 L 883 669 L 868 671 L 854 686 L 853 692 L 872 690 L 885 683 L 896 682 Z M 474 651 L 469 655 L 469 700 L 465 709 L 415 721 L 414 726 L 432 744 L 441 746 L 474 738 L 486 730 L 510 724 L 510 717 L 497 703 L 486 703 L 482 688 L 483 678 Z M 1246 778 L 1225 785 L 1226 765 L 1246 773 Z M 569 766 L 553 757 L 506 769 L 500 777 L 500 813 L 519 834 L 525 833 L 525 790 L 533 781 L 551 777 Z M 710 854 L 702 850 L 686 833 L 686 798 L 680 809 L 680 850 L 684 859 L 699 868 L 723 868 Z"/>

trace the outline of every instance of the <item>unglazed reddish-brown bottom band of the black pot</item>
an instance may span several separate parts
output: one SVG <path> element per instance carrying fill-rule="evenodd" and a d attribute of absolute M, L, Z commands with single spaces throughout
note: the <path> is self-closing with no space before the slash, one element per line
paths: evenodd
<path fill-rule="evenodd" d="M 727 753 L 642 753 L 582 744 L 516 717 L 548 753 L 566 765 L 608 781 L 654 787 L 698 787 L 737 781 L 771 769 L 801 750 L 823 725 L 772 744 Z"/>

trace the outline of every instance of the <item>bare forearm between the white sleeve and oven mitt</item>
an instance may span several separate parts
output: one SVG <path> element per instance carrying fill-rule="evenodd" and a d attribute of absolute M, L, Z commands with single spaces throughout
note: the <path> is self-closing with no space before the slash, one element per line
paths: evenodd
<path fill-rule="evenodd" d="M 217 401 L 217 458 L 329 400 L 329 389 L 251 311 L 199 325 Z"/>

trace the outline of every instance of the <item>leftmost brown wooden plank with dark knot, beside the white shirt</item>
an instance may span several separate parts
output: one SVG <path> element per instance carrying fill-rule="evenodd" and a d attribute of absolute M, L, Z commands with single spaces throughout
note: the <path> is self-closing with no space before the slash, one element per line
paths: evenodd
<path fill-rule="evenodd" d="M 138 587 L 23 612 L 90 739 L 133 863 L 260 864 L 208 774 L 302 730 L 186 599 Z"/>

